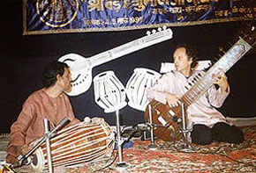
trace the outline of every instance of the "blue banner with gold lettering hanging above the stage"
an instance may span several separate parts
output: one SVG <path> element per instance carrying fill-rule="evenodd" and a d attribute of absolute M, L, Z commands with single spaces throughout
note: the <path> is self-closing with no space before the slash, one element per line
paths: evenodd
<path fill-rule="evenodd" d="M 256 18 L 255 0 L 24 0 L 23 33 L 102 32 Z"/>

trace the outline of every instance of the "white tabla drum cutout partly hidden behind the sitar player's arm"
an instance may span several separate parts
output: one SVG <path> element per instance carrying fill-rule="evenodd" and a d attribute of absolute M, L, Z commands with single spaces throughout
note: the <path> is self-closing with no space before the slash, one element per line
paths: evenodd
<path fill-rule="evenodd" d="M 139 111 L 145 112 L 149 101 L 147 89 L 152 87 L 161 75 L 147 68 L 135 68 L 128 80 L 125 89 L 129 99 L 128 105 Z"/>

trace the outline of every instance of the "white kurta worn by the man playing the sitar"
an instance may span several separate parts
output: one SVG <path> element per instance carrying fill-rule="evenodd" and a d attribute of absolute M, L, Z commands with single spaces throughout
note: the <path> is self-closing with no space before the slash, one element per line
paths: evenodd
<path fill-rule="evenodd" d="M 198 73 L 203 73 L 203 71 L 195 71 L 192 76 L 186 78 L 182 73 L 176 70 L 170 71 L 162 75 L 158 83 L 155 83 L 152 88 L 147 90 L 147 98 L 166 104 L 166 92 L 175 94 L 179 98 L 183 97 L 184 93 L 188 90 L 185 86 L 188 86 L 188 83 L 192 81 L 192 78 Z M 218 112 L 215 107 L 221 107 L 229 94 L 230 89 L 227 92 L 221 90 L 221 88 L 216 90 L 213 85 L 195 103 L 188 106 L 186 110 L 188 118 L 187 127 L 192 128 L 193 124 L 203 124 L 212 127 L 217 122 L 226 122 L 225 117 L 221 112 Z"/>

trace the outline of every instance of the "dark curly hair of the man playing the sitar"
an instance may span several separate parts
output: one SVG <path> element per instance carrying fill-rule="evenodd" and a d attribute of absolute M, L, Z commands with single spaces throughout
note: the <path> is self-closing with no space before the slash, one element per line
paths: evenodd
<path fill-rule="evenodd" d="M 174 51 L 176 51 L 178 48 L 181 48 L 181 47 L 184 47 L 185 48 L 185 54 L 188 55 L 189 58 L 192 59 L 192 65 L 191 67 L 192 68 L 195 68 L 196 65 L 198 64 L 198 52 L 197 50 L 195 49 L 195 47 L 192 47 L 191 45 L 188 45 L 188 44 L 179 44 L 177 45 L 177 47 L 174 49 Z"/>

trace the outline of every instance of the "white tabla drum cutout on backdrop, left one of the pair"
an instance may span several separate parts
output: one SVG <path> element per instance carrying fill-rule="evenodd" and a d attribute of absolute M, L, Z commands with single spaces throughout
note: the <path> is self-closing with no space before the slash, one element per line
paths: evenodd
<path fill-rule="evenodd" d="M 102 72 L 94 77 L 94 100 L 104 112 L 115 112 L 124 108 L 124 85 L 118 80 L 113 71 Z"/>

